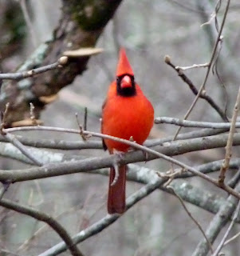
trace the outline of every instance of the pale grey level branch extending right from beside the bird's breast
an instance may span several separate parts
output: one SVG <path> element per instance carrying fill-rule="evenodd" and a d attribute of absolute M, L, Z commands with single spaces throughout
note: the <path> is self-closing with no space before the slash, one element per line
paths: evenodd
<path fill-rule="evenodd" d="M 199 122 L 199 121 L 189 121 L 179 118 L 167 118 L 159 117 L 155 118 L 155 124 L 167 123 L 175 126 L 183 127 L 197 127 L 197 128 L 213 128 L 213 129 L 230 129 L 231 124 L 229 122 Z M 235 123 L 236 128 L 240 128 L 240 122 Z"/>

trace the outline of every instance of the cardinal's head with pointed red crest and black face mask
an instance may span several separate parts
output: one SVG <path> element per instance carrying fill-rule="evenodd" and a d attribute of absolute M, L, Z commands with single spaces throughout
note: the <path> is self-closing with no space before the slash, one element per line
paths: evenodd
<path fill-rule="evenodd" d="M 125 97 L 136 95 L 136 86 L 132 67 L 124 48 L 120 49 L 119 61 L 116 67 L 116 91 Z"/>

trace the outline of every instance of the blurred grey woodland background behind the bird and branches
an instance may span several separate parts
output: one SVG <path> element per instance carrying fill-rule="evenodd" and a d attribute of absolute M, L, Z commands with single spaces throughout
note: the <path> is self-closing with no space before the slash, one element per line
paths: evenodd
<path fill-rule="evenodd" d="M 88 70 L 75 79 L 72 85 L 59 93 L 59 98 L 49 104 L 41 114 L 46 126 L 77 128 L 75 113 L 83 118 L 88 107 L 88 130 L 100 131 L 101 105 L 108 85 L 115 77 L 120 46 L 124 46 L 135 72 L 136 82 L 144 90 L 155 108 L 155 117 L 183 118 L 194 94 L 164 62 L 166 54 L 175 66 L 191 66 L 210 61 L 214 39 L 218 34 L 214 18 L 217 1 L 208 0 L 133 0 L 123 1 L 112 21 L 108 22 L 97 46 L 104 52 L 90 59 Z M 218 13 L 219 23 L 226 2 Z M 240 4 L 231 1 L 223 30 L 222 51 L 218 58 L 221 81 L 210 74 L 207 94 L 219 106 L 227 102 L 230 116 L 238 92 L 240 73 Z M 53 33 L 61 14 L 61 1 L 0 0 L 0 68 L 2 72 L 15 70 Z M 28 26 L 29 19 L 31 26 Z M 203 26 L 203 23 L 209 22 Z M 185 72 L 195 86 L 202 85 L 206 69 Z M 191 113 L 191 120 L 221 122 L 215 110 L 207 102 L 199 100 Z M 155 126 L 151 138 L 163 138 L 175 134 L 176 126 Z M 182 132 L 190 131 L 183 129 Z M 56 134 L 29 133 L 36 138 L 56 138 Z M 77 135 L 57 134 L 57 138 L 79 140 Z M 64 151 L 65 154 L 84 156 L 104 155 L 103 150 Z M 237 152 L 234 152 L 236 155 Z M 222 159 L 223 150 L 205 150 L 178 157 L 187 164 L 197 166 L 204 162 Z M 0 158 L 2 169 L 25 168 L 23 163 Z M 170 165 L 163 160 L 142 164 L 151 169 L 166 171 Z M 191 182 L 191 179 L 190 179 Z M 202 184 L 203 189 L 214 188 Z M 142 185 L 128 182 L 127 194 L 139 190 Z M 70 234 L 76 234 L 106 214 L 108 178 L 94 174 L 72 174 L 22 182 L 10 186 L 6 198 L 18 200 L 24 205 L 56 217 Z M 219 193 L 222 193 L 219 190 Z M 226 194 L 222 193 L 226 196 Z M 194 217 L 206 229 L 212 214 L 187 204 Z M 234 231 L 233 231 L 234 232 Z M 223 233 L 222 233 L 223 234 Z M 187 216 L 178 199 L 156 190 L 128 210 L 116 223 L 80 245 L 85 255 L 191 255 L 199 240 L 199 229 Z M 0 207 L 0 255 L 39 254 L 60 242 L 57 234 L 44 223 Z M 238 255 L 239 243 L 226 246 L 227 255 Z M 69 255 L 68 252 L 65 255 Z"/>

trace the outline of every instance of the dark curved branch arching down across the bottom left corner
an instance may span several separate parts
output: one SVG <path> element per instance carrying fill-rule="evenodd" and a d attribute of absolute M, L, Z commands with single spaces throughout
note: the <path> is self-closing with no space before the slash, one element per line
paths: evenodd
<path fill-rule="evenodd" d="M 26 214 L 41 222 L 47 223 L 49 226 L 53 228 L 53 230 L 57 232 L 57 234 L 65 242 L 65 245 L 69 248 L 72 255 L 83 256 L 83 254 L 81 254 L 81 251 L 77 248 L 76 242 L 73 242 L 73 239 L 69 236 L 65 228 L 48 214 L 40 212 L 39 210 L 34 210 L 33 208 L 27 206 L 22 206 L 17 202 L 11 202 L 10 200 L 7 199 L 2 199 L 0 201 L 0 206 L 6 207 L 7 209 L 10 210 L 17 211 L 18 213 L 21 214 Z"/>

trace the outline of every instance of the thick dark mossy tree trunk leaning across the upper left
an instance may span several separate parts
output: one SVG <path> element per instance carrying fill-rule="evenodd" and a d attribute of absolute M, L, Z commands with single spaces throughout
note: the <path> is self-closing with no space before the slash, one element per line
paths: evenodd
<path fill-rule="evenodd" d="M 54 30 L 52 40 L 40 46 L 34 56 L 28 59 L 18 72 L 48 66 L 61 58 L 66 50 L 95 46 L 104 26 L 112 18 L 120 2 L 121 0 L 90 2 L 62 0 L 61 19 Z M 36 118 L 39 118 L 46 104 L 41 97 L 53 96 L 61 88 L 73 82 L 78 74 L 86 70 L 88 61 L 89 57 L 69 57 L 69 61 L 61 70 L 49 70 L 45 75 L 26 78 L 20 82 L 4 82 L 0 110 L 6 102 L 10 102 L 7 126 L 30 117 L 29 102 L 33 102 Z"/>

